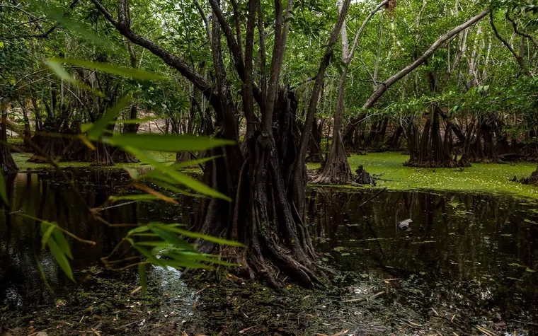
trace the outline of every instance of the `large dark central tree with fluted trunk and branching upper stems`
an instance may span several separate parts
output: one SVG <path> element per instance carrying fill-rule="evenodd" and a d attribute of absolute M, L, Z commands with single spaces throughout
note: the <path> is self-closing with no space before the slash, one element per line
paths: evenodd
<path fill-rule="evenodd" d="M 275 0 L 274 32 L 275 42 L 271 57 L 270 76 L 265 86 L 265 61 L 262 61 L 261 88 L 253 83 L 252 62 L 249 61 L 253 48 L 253 28 L 258 13 L 261 49 L 265 41 L 261 1 L 248 1 L 245 59 L 240 46 L 229 26 L 227 18 L 219 6 L 219 1 L 210 0 L 212 7 L 212 31 L 210 32 L 213 56 L 215 86 L 191 69 L 182 59 L 166 52 L 154 42 L 133 32 L 126 13 L 118 15 L 118 21 L 106 11 L 98 0 L 92 0 L 115 28 L 132 42 L 142 45 L 167 64 L 181 72 L 195 88 L 202 91 L 215 112 L 217 137 L 239 142 L 239 127 L 236 105 L 231 96 L 231 87 L 225 72 L 221 34 L 234 60 L 234 66 L 241 81 L 244 81 L 244 108 L 251 110 L 253 100 L 261 110 L 261 129 L 251 129 L 246 156 L 239 145 L 214 149 L 212 155 L 219 155 L 212 163 L 207 163 L 204 180 L 216 190 L 228 195 L 233 202 L 222 199 L 203 199 L 200 202 L 198 231 L 214 236 L 226 236 L 246 244 L 241 254 L 241 265 L 251 277 L 266 279 L 273 286 L 280 283 L 278 274 L 285 274 L 304 286 L 312 286 L 322 277 L 316 267 L 314 250 L 308 231 L 304 227 L 304 188 L 306 181 L 306 153 L 312 120 L 319 100 L 321 80 L 331 60 L 338 31 L 350 5 L 345 0 L 345 11 L 338 16 L 338 23 L 331 32 L 324 58 L 318 69 L 316 84 L 307 113 L 307 120 L 297 143 L 295 124 L 297 101 L 294 93 L 280 89 L 280 71 L 287 40 L 288 26 L 292 16 L 292 1 L 287 8 Z M 257 7 L 257 11 L 256 11 Z M 285 17 L 282 15 L 286 13 Z M 222 29 L 221 29 L 222 28 Z M 265 59 L 265 51 L 261 52 Z M 252 115 L 248 114 L 251 118 Z M 275 127 L 276 124 L 276 127 Z M 250 135 L 250 134 L 249 134 Z M 203 245 L 202 251 L 212 250 L 212 245 Z M 284 271 L 280 273 L 280 270 Z"/>

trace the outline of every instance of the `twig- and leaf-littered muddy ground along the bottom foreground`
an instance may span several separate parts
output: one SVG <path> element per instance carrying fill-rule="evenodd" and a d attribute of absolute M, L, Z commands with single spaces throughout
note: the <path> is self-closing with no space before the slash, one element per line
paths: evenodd
<path fill-rule="evenodd" d="M 88 273 L 74 293 L 58 294 L 55 304 L 33 311 L 7 311 L 0 324 L 13 336 L 481 335 L 447 307 L 425 318 L 387 306 L 382 296 L 390 285 L 383 283 L 365 284 L 357 299 L 354 287 L 312 291 L 288 284 L 275 291 L 224 272 L 220 279 L 188 277 L 188 285 L 154 278 L 142 294 L 132 281 L 103 276 L 97 268 Z M 491 319 L 485 320 L 484 330 L 495 330 Z"/>

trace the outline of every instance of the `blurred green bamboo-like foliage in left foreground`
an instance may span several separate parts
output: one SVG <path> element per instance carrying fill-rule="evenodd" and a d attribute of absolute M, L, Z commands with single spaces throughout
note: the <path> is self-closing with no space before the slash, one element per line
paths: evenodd
<path fill-rule="evenodd" d="M 62 63 L 83 66 L 88 69 L 127 76 L 131 79 L 139 79 L 142 81 L 163 79 L 162 76 L 147 71 L 121 68 L 113 66 L 112 64 L 94 63 L 76 59 L 53 59 L 47 61 L 47 65 L 53 72 L 55 72 L 55 74 L 57 74 L 59 79 L 71 83 L 74 86 L 79 86 L 87 91 L 91 91 L 91 93 L 96 95 L 101 95 L 102 93 L 90 88 L 85 83 L 81 83 L 77 79 L 74 79 L 74 77 L 64 69 Z M 144 163 L 149 164 L 152 168 L 145 173 L 134 168 L 125 168 L 130 174 L 132 181 L 118 195 L 110 196 L 108 201 L 101 207 L 96 209 L 88 208 L 90 218 L 96 220 L 96 223 L 99 221 L 106 225 L 117 226 L 118 224 L 109 224 L 100 214 L 101 210 L 105 209 L 110 202 L 164 201 L 171 204 L 177 204 L 178 202 L 173 196 L 166 195 L 168 193 L 189 195 L 193 197 L 217 197 L 229 200 L 229 197 L 226 195 L 200 183 L 197 179 L 192 178 L 181 171 L 182 168 L 211 161 L 214 157 L 197 158 L 193 161 L 170 165 L 153 158 L 148 151 L 173 153 L 181 151 L 205 151 L 219 146 L 232 145 L 234 144 L 234 141 L 210 137 L 196 137 L 190 134 L 118 134 L 111 131 L 112 128 L 110 125 L 115 124 L 120 112 L 130 105 L 131 100 L 132 95 L 127 93 L 117 103 L 108 108 L 96 122 L 93 122 L 93 124 L 82 124 L 82 133 L 73 137 L 73 139 L 80 140 L 90 151 L 96 151 L 98 145 L 118 147 L 123 151 L 136 156 Z M 131 123 L 141 121 L 142 120 L 136 119 L 129 120 Z M 55 159 L 50 158 L 48 161 L 55 162 Z M 55 168 L 61 170 L 57 165 L 55 165 Z M 152 185 L 150 186 L 149 183 Z M 156 185 L 159 190 L 156 190 L 154 185 Z M 125 194 L 125 192 L 131 192 L 132 190 L 136 190 L 136 193 Z M 6 186 L 2 175 L 0 175 L 0 197 L 4 202 L 8 202 Z M 27 215 L 23 214 L 22 216 Z M 71 253 L 69 241 L 66 236 L 81 243 L 96 245 L 96 242 L 86 241 L 79 238 L 69 231 L 66 231 L 64 228 L 59 227 L 57 223 L 43 221 L 33 217 L 32 219 L 40 222 L 42 249 L 48 248 L 62 271 L 69 277 L 69 279 L 75 281 L 73 270 L 69 263 L 69 260 L 73 260 L 74 257 Z M 222 238 L 185 230 L 185 228 L 180 228 L 181 224 L 150 222 L 144 226 L 139 226 L 139 224 L 136 223 L 119 224 L 119 226 L 137 226 L 137 228 L 133 228 L 110 255 L 102 258 L 103 263 L 105 267 L 112 270 L 125 270 L 129 267 L 138 266 L 140 283 L 144 290 L 147 284 L 145 266 L 148 264 L 182 269 L 186 267 L 210 269 L 212 268 L 212 265 L 235 265 L 223 261 L 222 257 L 219 255 L 198 253 L 195 243 L 189 243 L 188 241 L 203 240 L 210 243 L 230 245 L 234 247 L 243 246 L 241 243 L 234 241 L 228 241 Z M 110 260 L 122 243 L 129 243 L 135 255 L 131 255 L 130 257 L 121 260 Z M 36 261 L 38 262 L 38 268 L 46 283 L 47 281 L 44 272 L 42 272 L 42 267 L 37 258 Z"/>

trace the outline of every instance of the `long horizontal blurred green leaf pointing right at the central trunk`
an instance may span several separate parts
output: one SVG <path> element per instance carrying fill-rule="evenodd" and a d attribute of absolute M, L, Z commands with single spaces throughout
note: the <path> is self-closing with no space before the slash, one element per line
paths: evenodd
<path fill-rule="evenodd" d="M 203 151 L 215 147 L 233 145 L 234 141 L 197 137 L 190 134 L 151 134 L 151 133 L 124 133 L 115 134 L 112 138 L 106 139 L 108 144 L 115 146 L 132 146 L 136 149 L 147 151 Z"/>

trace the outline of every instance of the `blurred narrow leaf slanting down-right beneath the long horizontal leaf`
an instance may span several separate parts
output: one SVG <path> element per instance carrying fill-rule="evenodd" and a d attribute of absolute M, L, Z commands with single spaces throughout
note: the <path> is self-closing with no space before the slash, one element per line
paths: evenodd
<path fill-rule="evenodd" d="M 153 166 L 157 171 L 161 171 L 161 173 L 165 173 L 173 180 L 175 180 L 176 183 L 185 185 L 185 187 L 190 188 L 191 190 L 194 190 L 195 192 L 200 192 L 200 194 L 211 196 L 211 197 L 217 197 L 221 199 L 226 199 L 228 201 L 231 201 L 229 197 L 226 195 L 223 195 L 222 193 L 218 192 L 217 190 L 214 190 L 204 183 L 201 183 L 198 180 L 195 180 L 194 178 L 191 178 L 188 175 L 185 175 L 183 173 L 178 172 L 177 170 L 166 166 L 158 161 L 156 161 L 154 158 L 151 158 L 143 151 L 139 151 L 138 149 L 135 149 L 131 146 L 125 146 L 124 148 L 126 151 L 132 153 L 133 155 L 137 156 L 141 161 L 145 161 L 149 163 L 151 166 Z"/>

